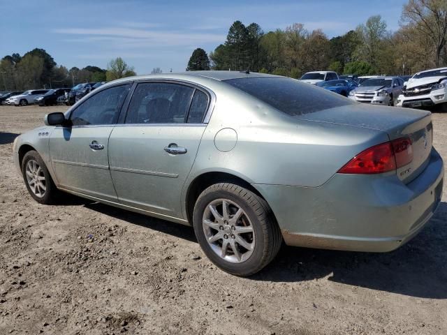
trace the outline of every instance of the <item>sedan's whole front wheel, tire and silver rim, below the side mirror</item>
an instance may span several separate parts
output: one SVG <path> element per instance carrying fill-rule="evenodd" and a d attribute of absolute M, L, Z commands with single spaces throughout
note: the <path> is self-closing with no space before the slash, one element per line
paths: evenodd
<path fill-rule="evenodd" d="M 22 174 L 28 192 L 34 200 L 41 204 L 51 204 L 57 193 L 50 172 L 37 151 L 25 154 L 22 161 Z"/>

